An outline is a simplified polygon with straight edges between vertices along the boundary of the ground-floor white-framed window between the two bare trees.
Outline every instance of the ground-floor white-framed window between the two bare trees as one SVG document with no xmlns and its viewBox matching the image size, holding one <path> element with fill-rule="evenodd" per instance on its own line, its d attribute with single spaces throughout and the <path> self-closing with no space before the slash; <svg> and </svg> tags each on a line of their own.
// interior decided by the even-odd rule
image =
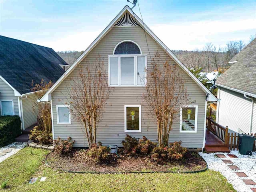
<svg viewBox="0 0 256 192">
<path fill-rule="evenodd" d="M 124 106 L 124 131 L 141 132 L 141 106 Z"/>
</svg>

